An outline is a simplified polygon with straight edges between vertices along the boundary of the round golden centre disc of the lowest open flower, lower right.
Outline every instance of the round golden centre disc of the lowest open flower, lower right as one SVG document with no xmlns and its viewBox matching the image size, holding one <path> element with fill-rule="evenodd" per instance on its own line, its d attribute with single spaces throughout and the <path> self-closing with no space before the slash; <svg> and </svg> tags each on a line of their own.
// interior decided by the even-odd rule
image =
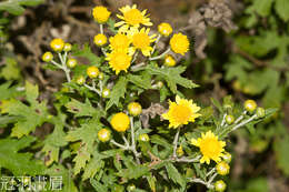
<svg viewBox="0 0 289 192">
<path fill-rule="evenodd" d="M 221 153 L 222 146 L 216 138 L 203 139 L 200 143 L 201 153 L 208 158 L 218 156 Z"/>
</svg>

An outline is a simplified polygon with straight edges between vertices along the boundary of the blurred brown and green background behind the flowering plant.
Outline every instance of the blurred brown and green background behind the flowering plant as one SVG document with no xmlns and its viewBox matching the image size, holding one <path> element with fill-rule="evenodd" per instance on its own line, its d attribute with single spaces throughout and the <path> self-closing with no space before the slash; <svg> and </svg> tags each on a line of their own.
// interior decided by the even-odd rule
<svg viewBox="0 0 289 192">
<path fill-rule="evenodd" d="M 97 4 L 107 6 L 116 17 L 119 7 L 137 3 L 148 9 L 155 30 L 169 22 L 175 31 L 187 33 L 191 51 L 180 64 L 188 65 L 183 75 L 200 84 L 183 90 L 188 97 L 209 105 L 210 98 L 231 94 L 236 102 L 255 99 L 263 108 L 279 108 L 255 129 L 232 133 L 228 191 L 289 191 L 289 0 L 30 0 L 24 7 L 3 2 L 0 83 L 28 79 L 48 100 L 64 77 L 41 68 L 42 53 L 53 38 L 62 38 L 89 42 L 97 54 L 93 36 L 99 28 L 91 17 Z"/>
</svg>

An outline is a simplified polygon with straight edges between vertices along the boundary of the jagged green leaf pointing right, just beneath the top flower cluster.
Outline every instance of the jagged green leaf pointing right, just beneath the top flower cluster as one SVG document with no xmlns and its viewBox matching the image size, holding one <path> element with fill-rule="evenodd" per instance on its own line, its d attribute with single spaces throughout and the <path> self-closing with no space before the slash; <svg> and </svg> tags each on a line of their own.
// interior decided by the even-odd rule
<svg viewBox="0 0 289 192">
<path fill-rule="evenodd" d="M 149 64 L 146 70 L 150 74 L 159 75 L 165 81 L 167 81 L 168 87 L 170 90 L 177 94 L 177 85 L 182 85 L 185 88 L 197 88 L 198 84 L 193 83 L 192 81 L 182 78 L 181 73 L 186 70 L 185 67 L 177 67 L 177 68 L 159 68 L 157 65 Z"/>
</svg>

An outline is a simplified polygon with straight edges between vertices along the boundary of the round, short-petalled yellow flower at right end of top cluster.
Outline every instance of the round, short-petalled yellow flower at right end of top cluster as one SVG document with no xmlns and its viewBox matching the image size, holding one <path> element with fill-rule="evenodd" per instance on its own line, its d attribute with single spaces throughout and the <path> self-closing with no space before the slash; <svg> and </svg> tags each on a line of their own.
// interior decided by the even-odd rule
<svg viewBox="0 0 289 192">
<path fill-rule="evenodd" d="M 188 37 L 182 33 L 173 34 L 170 39 L 171 50 L 176 53 L 185 54 L 189 51 L 190 42 Z"/>
</svg>

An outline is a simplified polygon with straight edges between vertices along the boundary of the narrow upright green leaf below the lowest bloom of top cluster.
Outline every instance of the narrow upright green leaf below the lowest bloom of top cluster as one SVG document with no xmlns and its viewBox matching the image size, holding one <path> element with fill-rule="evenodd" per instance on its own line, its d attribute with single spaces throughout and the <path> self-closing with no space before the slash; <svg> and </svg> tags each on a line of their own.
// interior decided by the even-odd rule
<svg viewBox="0 0 289 192">
<path fill-rule="evenodd" d="M 124 98 L 127 84 L 128 80 L 124 77 L 120 77 L 110 92 L 110 99 L 107 103 L 106 110 L 109 110 L 113 104 L 118 105 L 120 98 Z"/>
</svg>

